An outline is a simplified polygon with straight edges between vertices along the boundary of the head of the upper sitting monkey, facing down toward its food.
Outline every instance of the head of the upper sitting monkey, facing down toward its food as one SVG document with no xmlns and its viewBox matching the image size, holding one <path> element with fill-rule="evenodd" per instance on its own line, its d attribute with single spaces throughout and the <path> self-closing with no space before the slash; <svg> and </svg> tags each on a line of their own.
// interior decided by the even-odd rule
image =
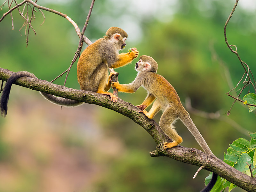
<svg viewBox="0 0 256 192">
<path fill-rule="evenodd" d="M 106 39 L 109 39 L 110 41 L 114 42 L 117 49 L 123 49 L 126 46 L 126 39 L 128 37 L 127 33 L 118 27 L 111 27 L 107 30 L 106 36 L 104 36 Z"/>
</svg>

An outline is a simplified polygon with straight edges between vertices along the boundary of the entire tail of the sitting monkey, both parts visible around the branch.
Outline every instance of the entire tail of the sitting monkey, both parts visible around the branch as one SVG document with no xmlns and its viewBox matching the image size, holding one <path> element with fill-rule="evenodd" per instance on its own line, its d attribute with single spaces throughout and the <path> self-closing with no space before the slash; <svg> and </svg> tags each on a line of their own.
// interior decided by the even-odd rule
<svg viewBox="0 0 256 192">
<path fill-rule="evenodd" d="M 4 90 L 3 90 L 1 98 L 0 98 L 1 115 L 4 115 L 4 116 L 7 115 L 7 109 L 8 109 L 7 104 L 8 104 L 12 84 L 18 78 L 23 77 L 23 76 L 36 78 L 36 76 L 34 74 L 29 73 L 28 71 L 20 71 L 20 72 L 14 73 L 6 81 L 5 86 L 4 86 Z M 40 92 L 40 93 L 44 96 L 45 99 L 47 99 L 47 100 L 49 100 L 52 103 L 55 103 L 57 105 L 66 106 L 66 107 L 75 107 L 75 106 L 83 104 L 83 102 L 80 102 L 80 101 L 75 101 L 75 100 L 65 99 L 65 98 L 61 98 L 61 97 L 56 97 L 54 95 L 47 94 L 47 93 L 44 93 L 44 92 Z"/>
</svg>

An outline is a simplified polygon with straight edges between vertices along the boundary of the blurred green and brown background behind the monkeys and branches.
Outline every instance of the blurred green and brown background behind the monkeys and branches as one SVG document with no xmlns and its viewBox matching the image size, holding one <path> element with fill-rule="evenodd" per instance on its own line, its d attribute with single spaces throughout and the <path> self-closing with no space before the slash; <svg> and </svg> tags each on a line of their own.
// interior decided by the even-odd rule
<svg viewBox="0 0 256 192">
<path fill-rule="evenodd" d="M 39 0 L 37 4 L 67 14 L 82 30 L 91 1 Z M 136 47 L 140 55 L 157 61 L 157 73 L 174 86 L 220 159 L 229 143 L 241 137 L 249 140 L 248 132 L 255 131 L 255 112 L 248 113 L 248 106 L 237 102 L 226 115 L 234 101 L 226 93 L 244 74 L 224 41 L 224 24 L 234 4 L 235 0 L 96 0 L 85 31 L 94 42 L 109 27 L 123 28 L 128 39 L 122 52 Z M 7 5 L 2 8 L 1 16 L 8 11 Z M 237 46 L 253 74 L 255 9 L 255 1 L 240 0 L 227 27 L 229 44 Z M 36 36 L 30 29 L 26 48 L 25 28 L 19 31 L 24 21 L 17 10 L 12 14 L 14 30 L 10 15 L 0 23 L 0 67 L 29 71 L 47 81 L 65 71 L 79 41 L 74 27 L 46 11 L 40 26 L 44 18 L 37 10 L 32 23 Z M 137 61 L 116 69 L 121 84 L 134 80 Z M 54 83 L 63 85 L 65 76 Z M 66 86 L 80 89 L 76 63 Z M 139 105 L 146 95 L 143 88 L 134 94 L 119 93 L 133 105 Z M 185 101 L 191 101 L 192 108 Z M 154 120 L 158 122 L 160 116 Z M 176 127 L 182 146 L 201 149 L 180 121 Z M 149 152 L 155 148 L 142 127 L 114 111 L 90 104 L 61 110 L 38 92 L 13 85 L 8 115 L 0 117 L 0 191 L 199 191 L 204 187 L 208 171 L 192 179 L 198 167 L 166 157 L 152 158 Z"/>
</svg>

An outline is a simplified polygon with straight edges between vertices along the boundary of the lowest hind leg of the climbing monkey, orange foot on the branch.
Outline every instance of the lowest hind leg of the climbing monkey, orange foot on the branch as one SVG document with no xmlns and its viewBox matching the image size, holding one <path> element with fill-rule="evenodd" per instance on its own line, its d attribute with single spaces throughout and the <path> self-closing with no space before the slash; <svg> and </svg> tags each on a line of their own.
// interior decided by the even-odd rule
<svg viewBox="0 0 256 192">
<path fill-rule="evenodd" d="M 164 149 L 173 148 L 179 145 L 182 142 L 182 138 L 174 129 L 173 124 L 178 119 L 178 115 L 174 112 L 172 108 L 167 108 L 161 119 L 159 121 L 159 125 L 161 129 L 164 131 L 166 135 L 168 135 L 173 141 L 172 142 L 165 142 Z"/>
</svg>

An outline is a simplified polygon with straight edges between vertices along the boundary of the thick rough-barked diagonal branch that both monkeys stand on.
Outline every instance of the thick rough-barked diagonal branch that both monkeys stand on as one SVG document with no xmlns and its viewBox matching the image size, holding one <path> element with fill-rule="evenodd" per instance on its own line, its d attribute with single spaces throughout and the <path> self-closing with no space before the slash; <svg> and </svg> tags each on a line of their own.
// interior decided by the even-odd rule
<svg viewBox="0 0 256 192">
<path fill-rule="evenodd" d="M 0 80 L 6 81 L 13 73 L 14 72 L 8 69 L 0 68 Z M 165 141 L 170 142 L 170 138 L 164 134 L 160 126 L 154 120 L 146 118 L 146 116 L 138 112 L 139 108 L 136 108 L 124 100 L 118 99 L 118 101 L 114 103 L 110 101 L 109 97 L 106 95 L 91 91 L 71 89 L 61 85 L 52 84 L 45 80 L 30 77 L 21 77 L 15 82 L 15 84 L 32 90 L 42 91 L 56 96 L 95 104 L 114 110 L 132 119 L 151 135 L 157 145 L 156 150 L 150 152 L 152 157 L 166 156 L 177 161 L 199 167 L 204 165 L 204 169 L 218 174 L 220 177 L 234 183 L 236 186 L 247 191 L 256 191 L 255 178 L 239 172 L 235 168 L 218 159 L 216 156 L 208 155 L 196 148 L 185 148 L 182 146 L 164 150 L 163 143 Z"/>
</svg>

